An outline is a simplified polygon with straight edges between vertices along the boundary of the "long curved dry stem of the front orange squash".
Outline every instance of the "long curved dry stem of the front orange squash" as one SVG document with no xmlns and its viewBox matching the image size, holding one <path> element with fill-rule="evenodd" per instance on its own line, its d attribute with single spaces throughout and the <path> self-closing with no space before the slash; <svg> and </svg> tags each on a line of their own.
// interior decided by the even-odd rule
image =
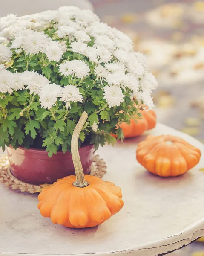
<svg viewBox="0 0 204 256">
<path fill-rule="evenodd" d="M 79 134 L 80 134 L 87 118 L 88 118 L 88 115 L 87 115 L 86 111 L 84 111 L 74 129 L 74 132 L 72 135 L 72 140 L 71 140 L 72 160 L 74 163 L 75 173 L 76 173 L 76 181 L 73 183 L 73 185 L 75 187 L 80 187 L 80 188 L 84 188 L 89 185 L 89 183 L 86 182 L 85 178 L 84 178 L 83 168 L 81 165 L 79 149 L 78 149 Z"/>
</svg>

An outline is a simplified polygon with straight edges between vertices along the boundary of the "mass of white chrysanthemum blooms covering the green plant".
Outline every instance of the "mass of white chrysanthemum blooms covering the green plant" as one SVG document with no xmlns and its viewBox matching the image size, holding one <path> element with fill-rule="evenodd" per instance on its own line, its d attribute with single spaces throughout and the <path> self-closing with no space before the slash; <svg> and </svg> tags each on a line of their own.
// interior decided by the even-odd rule
<svg viewBox="0 0 204 256">
<path fill-rule="evenodd" d="M 151 93 L 158 83 L 149 73 L 146 58 L 141 53 L 133 51 L 133 42 L 127 35 L 100 23 L 98 16 L 93 12 L 66 6 L 57 11 L 22 17 L 8 15 L 0 19 L 0 27 L 3 28 L 0 32 L 0 64 L 11 61 L 10 48 L 17 54 L 17 58 L 19 55 L 23 58 L 24 55 L 37 55 L 42 52 L 47 58 L 44 60 L 39 54 L 36 56 L 36 62 L 46 65 L 48 61 L 57 61 L 55 67 L 57 79 L 60 76 L 69 76 L 69 79 L 71 76 L 80 79 L 86 76 L 92 78 L 94 73 L 97 84 L 103 85 L 106 81 L 109 86 L 104 87 L 103 95 L 109 107 L 119 106 L 124 101 L 124 93 L 127 89 L 149 108 L 152 107 Z M 50 32 L 49 35 L 46 34 L 47 31 Z M 91 40 L 93 40 L 92 44 L 89 43 Z M 10 48 L 6 47 L 8 43 L 12 43 Z M 62 63 L 63 55 L 67 51 L 69 51 L 67 60 Z M 92 73 L 89 64 L 86 64 L 85 56 L 89 58 L 89 63 L 92 62 L 91 65 L 94 65 Z M 32 63 L 30 64 L 32 66 Z M 20 71 L 20 66 L 15 62 L 13 65 L 15 70 Z M 62 94 L 57 93 L 61 87 L 50 84 L 45 76 L 39 75 L 37 72 L 41 72 L 40 68 L 37 72 L 26 71 L 14 74 L 7 71 L 4 65 L 0 65 L 0 72 L 2 72 L 2 78 L 0 77 L 2 91 L 11 93 L 12 90 L 23 90 L 25 86 L 30 94 L 39 94 L 43 108 L 51 108 L 55 105 L 57 97 L 69 107 L 70 102 L 82 102 L 82 94 L 73 85 L 62 88 Z M 9 78 L 8 75 L 11 77 Z M 96 131 L 97 123 L 94 123 L 92 129 Z"/>
</svg>

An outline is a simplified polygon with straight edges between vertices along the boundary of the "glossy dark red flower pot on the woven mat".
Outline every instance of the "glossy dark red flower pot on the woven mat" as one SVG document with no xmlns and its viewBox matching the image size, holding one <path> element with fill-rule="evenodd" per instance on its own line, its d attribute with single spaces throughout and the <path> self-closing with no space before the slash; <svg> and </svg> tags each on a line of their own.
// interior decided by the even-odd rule
<svg viewBox="0 0 204 256">
<path fill-rule="evenodd" d="M 48 153 L 43 149 L 11 146 L 7 148 L 11 173 L 27 183 L 32 184 L 52 184 L 57 179 L 69 175 L 75 175 L 75 169 L 70 152 L 65 154 L 58 151 L 56 155 L 48 157 Z M 81 163 L 84 174 L 89 174 L 94 146 L 86 145 L 79 148 Z"/>
</svg>

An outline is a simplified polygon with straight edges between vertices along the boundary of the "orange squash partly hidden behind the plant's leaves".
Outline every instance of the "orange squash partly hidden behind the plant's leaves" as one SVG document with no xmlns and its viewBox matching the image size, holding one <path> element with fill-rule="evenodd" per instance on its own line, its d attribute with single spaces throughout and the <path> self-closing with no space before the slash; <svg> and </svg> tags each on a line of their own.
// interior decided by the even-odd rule
<svg viewBox="0 0 204 256">
<path fill-rule="evenodd" d="M 125 122 L 120 125 L 123 130 L 125 138 L 132 138 L 138 135 L 143 134 L 146 130 L 151 130 L 156 125 L 156 114 L 155 111 L 139 111 L 142 114 L 142 119 L 137 119 L 137 122 L 134 119 L 130 120 L 130 125 Z M 113 137 L 117 138 L 117 135 L 112 134 Z"/>
</svg>

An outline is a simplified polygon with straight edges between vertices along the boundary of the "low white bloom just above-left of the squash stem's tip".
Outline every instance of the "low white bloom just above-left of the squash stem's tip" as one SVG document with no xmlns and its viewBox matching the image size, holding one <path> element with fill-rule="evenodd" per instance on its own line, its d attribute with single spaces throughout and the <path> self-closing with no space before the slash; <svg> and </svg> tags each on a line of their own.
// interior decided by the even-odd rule
<svg viewBox="0 0 204 256">
<path fill-rule="evenodd" d="M 62 88 L 61 100 L 66 103 L 66 107 L 71 108 L 70 102 L 83 102 L 83 96 L 79 92 L 79 89 L 74 85 L 67 85 Z"/>
</svg>

